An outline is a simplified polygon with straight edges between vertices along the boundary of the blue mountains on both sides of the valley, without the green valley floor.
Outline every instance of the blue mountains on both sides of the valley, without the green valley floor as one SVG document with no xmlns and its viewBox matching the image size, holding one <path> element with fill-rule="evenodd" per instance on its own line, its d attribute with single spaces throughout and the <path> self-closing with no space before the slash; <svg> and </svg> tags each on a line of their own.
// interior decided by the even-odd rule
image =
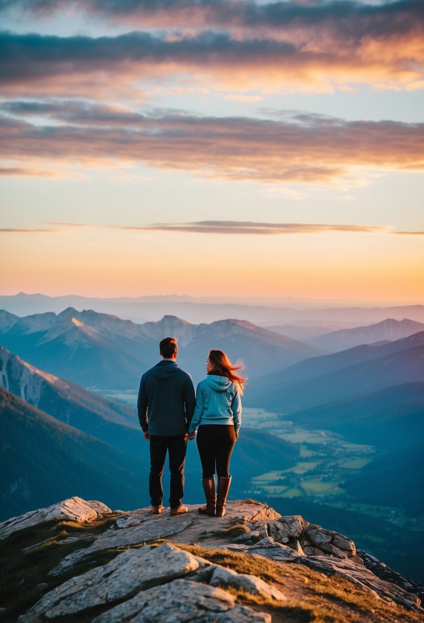
<svg viewBox="0 0 424 623">
<path fill-rule="evenodd" d="M 387 331 L 398 326 L 390 320 L 381 325 Z M 383 335 L 381 328 L 377 327 L 378 337 L 384 339 L 377 343 L 321 354 L 310 344 L 241 320 L 195 325 L 164 316 L 160 321 L 139 325 L 73 308 L 58 315 L 47 312 L 24 318 L 2 312 L 0 343 L 9 350 L 0 350 L 0 385 L 17 396 L 7 393 L 0 404 L 2 454 L 6 461 L 22 464 L 26 475 L 31 464 L 34 474 L 25 480 L 17 467 L 5 465 L 7 477 L 1 495 L 16 503 L 16 512 L 30 510 L 48 503 L 46 500 L 68 495 L 71 479 L 63 465 L 70 466 L 72 478 L 81 478 L 80 465 L 87 478 L 95 481 L 100 478 L 101 467 L 106 481 L 110 481 L 109 490 L 104 489 L 105 500 L 119 494 L 121 497 L 113 499 L 120 500 L 115 504 L 122 508 L 133 507 L 135 499 L 138 505 L 147 505 L 149 444 L 142 437 L 135 409 L 105 400 L 81 384 L 86 388 L 95 384 L 137 391 L 141 372 L 159 359 L 159 340 L 168 334 L 178 337 L 178 362 L 185 369 L 192 366 L 198 377 L 203 376 L 203 363 L 212 346 L 221 346 L 233 359 L 242 356 L 250 375 L 244 406 L 277 411 L 306 429 L 331 430 L 350 442 L 373 445 L 376 454 L 371 462 L 351 476 L 346 473 L 339 487 L 351 496 L 348 500 L 365 504 L 379 500 L 394 508 L 402 506 L 413 516 L 423 508 L 422 455 L 414 446 L 423 435 L 424 331 L 387 341 L 388 335 Z M 416 328 L 414 323 L 409 323 L 411 328 Z M 367 327 L 370 333 L 373 330 Z M 393 331 L 390 336 L 394 336 Z M 20 357 L 11 353 L 11 345 L 19 348 Z M 32 358 L 30 363 L 24 353 Z M 18 408 L 19 399 L 26 402 L 19 402 Z M 293 468 L 299 450 L 300 445 L 277 435 L 243 426 L 231 462 L 237 474 L 231 495 L 246 497 L 246 487 L 254 476 Z M 43 453 L 37 463 L 37 454 Z M 100 456 L 112 468 L 110 475 Z M 74 467 L 75 457 L 78 464 Z M 201 466 L 194 443 L 188 445 L 185 473 L 185 501 L 197 502 L 202 495 Z M 362 475 L 367 480 L 361 480 Z M 42 483 L 39 497 L 37 480 Z M 165 499 L 167 480 L 165 477 Z M 124 485 L 118 491 L 120 482 Z M 75 483 L 79 486 L 80 481 Z M 279 504 L 284 502 L 281 498 Z M 413 560 L 415 569 L 411 539 L 408 543 L 407 559 Z M 405 569 L 407 564 L 405 561 Z"/>
</svg>

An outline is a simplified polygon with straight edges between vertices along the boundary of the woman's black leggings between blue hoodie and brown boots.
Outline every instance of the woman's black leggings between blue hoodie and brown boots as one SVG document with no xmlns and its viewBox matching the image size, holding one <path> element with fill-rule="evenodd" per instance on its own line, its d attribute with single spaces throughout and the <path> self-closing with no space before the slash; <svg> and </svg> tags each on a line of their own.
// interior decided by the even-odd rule
<svg viewBox="0 0 424 623">
<path fill-rule="evenodd" d="M 201 424 L 196 441 L 203 478 L 215 475 L 215 465 L 218 477 L 228 478 L 229 459 L 236 443 L 233 424 Z"/>
</svg>

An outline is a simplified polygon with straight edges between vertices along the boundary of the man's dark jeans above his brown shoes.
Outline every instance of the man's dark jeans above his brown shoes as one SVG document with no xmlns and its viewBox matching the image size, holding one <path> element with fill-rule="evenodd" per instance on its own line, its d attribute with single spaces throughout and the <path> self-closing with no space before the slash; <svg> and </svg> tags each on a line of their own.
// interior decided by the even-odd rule
<svg viewBox="0 0 424 623">
<path fill-rule="evenodd" d="M 187 450 L 185 435 L 150 435 L 150 475 L 149 493 L 152 506 L 162 504 L 162 474 L 168 450 L 169 471 L 171 473 L 169 503 L 172 508 L 180 505 L 184 495 L 184 463 Z"/>
</svg>

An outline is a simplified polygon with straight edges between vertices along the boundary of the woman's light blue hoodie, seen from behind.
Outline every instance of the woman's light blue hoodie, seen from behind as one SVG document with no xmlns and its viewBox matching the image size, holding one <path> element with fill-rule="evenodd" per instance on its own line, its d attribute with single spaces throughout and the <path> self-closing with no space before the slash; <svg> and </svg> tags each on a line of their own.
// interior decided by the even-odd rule
<svg viewBox="0 0 424 623">
<path fill-rule="evenodd" d="M 208 374 L 206 379 L 200 381 L 188 433 L 192 433 L 199 424 L 234 424 L 234 430 L 239 432 L 241 400 L 236 383 L 216 374 Z"/>
</svg>

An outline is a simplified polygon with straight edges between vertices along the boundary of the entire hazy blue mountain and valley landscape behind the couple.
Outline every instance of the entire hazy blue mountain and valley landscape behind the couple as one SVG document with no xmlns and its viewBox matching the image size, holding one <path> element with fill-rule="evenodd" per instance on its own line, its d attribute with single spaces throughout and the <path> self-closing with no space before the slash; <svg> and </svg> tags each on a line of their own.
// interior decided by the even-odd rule
<svg viewBox="0 0 424 623">
<path fill-rule="evenodd" d="M 173 335 L 178 363 L 195 382 L 210 348 L 246 364 L 233 498 L 272 498 L 281 513 L 315 523 L 323 516 L 422 581 L 424 312 L 352 310 L 349 323 L 367 311 L 376 322 L 346 327 L 346 309 L 331 318 L 314 310 L 310 321 L 303 310 L 297 324 L 283 316 L 274 331 L 170 315 L 139 324 L 73 308 L 24 318 L 0 312 L 1 519 L 71 495 L 124 510 L 149 504 L 135 399 L 141 374 L 159 360 L 160 338 Z M 283 325 L 297 338 L 283 335 Z M 189 503 L 202 499 L 200 475 L 191 443 Z"/>
</svg>

